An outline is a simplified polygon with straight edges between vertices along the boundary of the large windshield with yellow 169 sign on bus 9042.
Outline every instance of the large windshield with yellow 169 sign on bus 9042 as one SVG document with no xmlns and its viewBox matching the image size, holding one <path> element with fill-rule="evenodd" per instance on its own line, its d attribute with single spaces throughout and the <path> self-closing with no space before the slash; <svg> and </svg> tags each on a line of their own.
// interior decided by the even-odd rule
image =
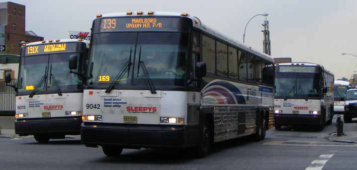
<svg viewBox="0 0 357 170">
<path fill-rule="evenodd" d="M 89 85 L 106 88 L 116 81 L 114 88 L 147 89 L 148 76 L 144 72 L 147 70 L 157 89 L 183 86 L 187 42 L 188 34 L 185 33 L 94 34 Z M 128 69 L 118 77 L 126 66 Z"/>
</svg>

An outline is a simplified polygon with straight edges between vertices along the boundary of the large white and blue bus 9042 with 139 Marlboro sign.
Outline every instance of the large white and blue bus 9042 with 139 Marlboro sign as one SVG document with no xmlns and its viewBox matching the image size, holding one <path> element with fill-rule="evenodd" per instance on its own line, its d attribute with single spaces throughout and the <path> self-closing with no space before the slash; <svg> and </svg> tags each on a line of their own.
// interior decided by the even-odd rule
<svg viewBox="0 0 357 170">
<path fill-rule="evenodd" d="M 186 13 L 99 14 L 91 34 L 87 147 L 117 156 L 123 148 L 198 146 L 203 157 L 214 142 L 265 138 L 273 109 L 268 55 Z"/>
</svg>

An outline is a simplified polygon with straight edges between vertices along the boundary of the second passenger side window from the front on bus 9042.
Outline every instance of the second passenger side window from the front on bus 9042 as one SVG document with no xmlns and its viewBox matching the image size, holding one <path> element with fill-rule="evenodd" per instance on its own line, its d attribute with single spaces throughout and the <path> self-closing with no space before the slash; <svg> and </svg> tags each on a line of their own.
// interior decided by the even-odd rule
<svg viewBox="0 0 357 170">
<path fill-rule="evenodd" d="M 228 52 L 227 45 L 219 41 L 217 43 L 217 74 L 228 76 Z"/>
</svg>

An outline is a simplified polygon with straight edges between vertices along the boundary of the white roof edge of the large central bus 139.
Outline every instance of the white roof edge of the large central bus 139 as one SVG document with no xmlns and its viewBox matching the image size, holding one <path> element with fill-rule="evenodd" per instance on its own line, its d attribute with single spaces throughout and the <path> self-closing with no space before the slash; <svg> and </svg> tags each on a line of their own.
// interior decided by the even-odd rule
<svg viewBox="0 0 357 170">
<path fill-rule="evenodd" d="M 132 12 L 132 14 L 128 15 L 127 12 L 117 12 L 117 13 L 108 13 L 108 14 L 103 14 L 102 17 L 121 17 L 121 16 L 177 16 L 177 17 L 185 17 L 181 16 L 182 13 L 177 13 L 177 12 L 154 12 L 154 14 L 148 14 L 148 12 L 143 12 L 143 14 L 138 15 L 137 12 Z M 267 54 L 261 53 L 258 50 L 252 49 L 251 47 L 238 42 L 237 40 L 234 40 L 232 38 L 228 38 L 224 34 L 221 34 L 219 31 L 214 30 L 213 28 L 210 28 L 209 26 L 203 24 L 200 19 L 198 19 L 195 16 L 188 15 L 186 18 L 190 18 L 192 20 L 193 27 L 206 32 L 208 34 L 211 34 L 213 36 L 216 36 L 219 39 L 222 39 L 224 41 L 227 41 L 228 43 L 237 46 L 238 48 L 250 52 L 256 56 L 259 56 L 261 58 L 264 58 L 265 60 L 268 60 L 270 62 L 274 62 L 273 58 L 268 56 Z"/>
</svg>

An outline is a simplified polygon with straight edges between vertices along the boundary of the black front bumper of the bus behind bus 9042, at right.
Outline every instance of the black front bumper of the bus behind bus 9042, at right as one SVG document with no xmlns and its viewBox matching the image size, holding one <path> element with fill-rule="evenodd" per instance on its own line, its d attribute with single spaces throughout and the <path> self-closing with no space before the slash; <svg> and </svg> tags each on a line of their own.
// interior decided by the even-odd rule
<svg viewBox="0 0 357 170">
<path fill-rule="evenodd" d="M 321 114 L 274 114 L 274 121 L 279 125 L 320 125 Z"/>
</svg>

